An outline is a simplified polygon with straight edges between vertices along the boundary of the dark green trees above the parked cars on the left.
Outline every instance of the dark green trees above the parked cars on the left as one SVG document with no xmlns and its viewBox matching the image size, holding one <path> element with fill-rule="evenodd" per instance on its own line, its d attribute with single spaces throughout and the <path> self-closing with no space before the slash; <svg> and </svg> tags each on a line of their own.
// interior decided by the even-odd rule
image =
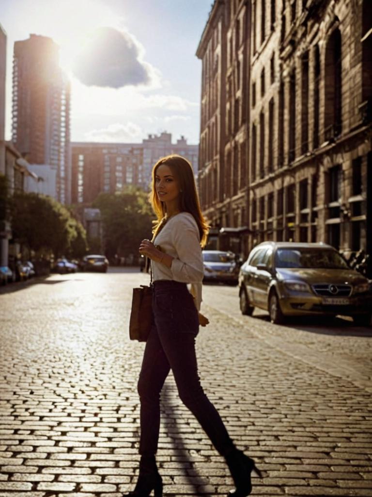
<svg viewBox="0 0 372 497">
<path fill-rule="evenodd" d="M 37 193 L 17 193 L 12 199 L 13 238 L 35 250 L 80 256 L 86 253 L 82 225 L 59 202 Z"/>
</svg>

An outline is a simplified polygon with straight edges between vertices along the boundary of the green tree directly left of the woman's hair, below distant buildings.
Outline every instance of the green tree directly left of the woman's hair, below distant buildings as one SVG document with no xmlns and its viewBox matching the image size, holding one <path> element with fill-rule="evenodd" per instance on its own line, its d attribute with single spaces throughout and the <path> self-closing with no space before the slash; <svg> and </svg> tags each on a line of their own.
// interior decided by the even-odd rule
<svg viewBox="0 0 372 497">
<path fill-rule="evenodd" d="M 138 255 L 144 238 L 151 238 L 154 218 L 147 193 L 130 187 L 115 194 L 101 193 L 92 207 L 101 211 L 104 227 L 105 253 L 108 257 Z"/>
</svg>

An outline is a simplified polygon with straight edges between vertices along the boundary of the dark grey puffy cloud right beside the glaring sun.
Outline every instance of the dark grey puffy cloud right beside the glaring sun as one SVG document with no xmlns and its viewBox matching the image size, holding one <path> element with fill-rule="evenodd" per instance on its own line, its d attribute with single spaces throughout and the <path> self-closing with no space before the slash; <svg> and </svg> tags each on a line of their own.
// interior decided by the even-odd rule
<svg viewBox="0 0 372 497">
<path fill-rule="evenodd" d="M 72 71 L 86 86 L 150 85 L 156 71 L 142 60 L 142 52 L 128 33 L 113 27 L 97 28 L 76 56 Z"/>
</svg>

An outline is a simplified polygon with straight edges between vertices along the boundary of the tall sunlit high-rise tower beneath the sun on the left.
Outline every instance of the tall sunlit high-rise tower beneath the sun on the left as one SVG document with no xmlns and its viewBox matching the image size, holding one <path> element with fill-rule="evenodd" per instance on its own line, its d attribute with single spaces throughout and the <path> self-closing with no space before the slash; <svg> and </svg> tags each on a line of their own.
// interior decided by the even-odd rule
<svg viewBox="0 0 372 497">
<path fill-rule="evenodd" d="M 56 170 L 57 200 L 70 203 L 69 82 L 51 38 L 14 43 L 12 142 L 30 164 Z"/>
</svg>

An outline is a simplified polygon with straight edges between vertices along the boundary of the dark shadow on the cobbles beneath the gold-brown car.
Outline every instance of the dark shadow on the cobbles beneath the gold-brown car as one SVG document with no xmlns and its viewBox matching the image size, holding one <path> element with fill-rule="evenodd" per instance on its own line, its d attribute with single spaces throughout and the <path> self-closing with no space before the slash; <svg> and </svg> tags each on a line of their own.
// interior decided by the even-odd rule
<svg viewBox="0 0 372 497">
<path fill-rule="evenodd" d="M 269 322 L 268 314 L 260 314 L 257 316 L 253 315 L 252 318 Z M 294 330 L 310 331 L 311 333 L 318 333 L 323 335 L 364 336 L 372 338 L 371 327 L 356 326 L 353 321 L 349 321 L 348 319 L 344 319 L 341 317 L 287 317 L 284 325 L 280 326 L 285 326 Z"/>
</svg>

